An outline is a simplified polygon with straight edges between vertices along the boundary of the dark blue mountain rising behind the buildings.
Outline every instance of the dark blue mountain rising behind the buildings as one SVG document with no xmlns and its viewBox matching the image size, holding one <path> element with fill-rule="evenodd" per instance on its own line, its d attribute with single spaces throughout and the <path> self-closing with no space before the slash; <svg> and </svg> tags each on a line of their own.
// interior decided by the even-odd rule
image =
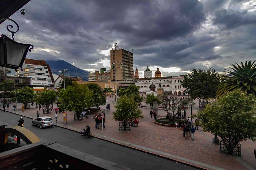
<svg viewBox="0 0 256 170">
<path fill-rule="evenodd" d="M 88 71 L 79 69 L 72 64 L 63 61 L 63 60 L 48 60 L 46 61 L 47 64 L 49 64 L 52 73 L 60 75 L 60 70 L 68 69 L 67 73 L 65 73 L 66 76 L 73 76 L 73 77 L 81 77 L 83 81 L 88 81 Z"/>
</svg>

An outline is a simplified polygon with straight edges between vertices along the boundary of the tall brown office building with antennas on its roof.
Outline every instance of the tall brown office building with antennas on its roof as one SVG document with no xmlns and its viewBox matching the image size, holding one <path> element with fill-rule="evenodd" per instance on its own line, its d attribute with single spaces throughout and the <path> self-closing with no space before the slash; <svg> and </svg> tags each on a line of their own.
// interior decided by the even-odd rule
<svg viewBox="0 0 256 170">
<path fill-rule="evenodd" d="M 133 53 L 126 51 L 124 49 L 119 49 L 118 46 L 115 45 L 115 49 L 110 51 L 110 65 L 111 68 L 113 64 L 116 64 L 116 74 L 115 70 L 111 69 L 110 76 L 111 80 L 117 82 L 120 87 L 128 87 L 129 85 L 135 84 L 137 80 L 133 79 Z M 120 67 L 120 63 L 122 63 L 122 68 Z"/>
</svg>

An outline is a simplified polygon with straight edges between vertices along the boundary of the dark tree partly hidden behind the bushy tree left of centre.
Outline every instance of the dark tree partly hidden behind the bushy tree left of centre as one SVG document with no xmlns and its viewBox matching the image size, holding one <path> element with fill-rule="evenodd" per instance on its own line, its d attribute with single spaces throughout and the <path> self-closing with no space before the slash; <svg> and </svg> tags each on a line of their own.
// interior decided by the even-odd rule
<svg viewBox="0 0 256 170">
<path fill-rule="evenodd" d="M 89 83 L 89 84 L 86 84 L 86 86 L 93 92 L 92 105 L 98 108 L 99 105 L 106 104 L 106 96 L 102 95 L 102 90 L 99 85 L 97 85 L 96 83 Z"/>
</svg>

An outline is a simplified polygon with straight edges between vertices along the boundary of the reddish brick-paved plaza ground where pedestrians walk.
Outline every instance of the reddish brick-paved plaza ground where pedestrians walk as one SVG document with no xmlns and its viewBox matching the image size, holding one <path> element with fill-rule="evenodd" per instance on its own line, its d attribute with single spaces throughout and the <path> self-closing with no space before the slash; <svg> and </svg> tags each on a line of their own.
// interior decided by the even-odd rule
<svg viewBox="0 0 256 170">
<path fill-rule="evenodd" d="M 108 102 L 110 103 L 111 108 L 110 111 L 106 111 L 105 129 L 103 130 L 103 139 L 105 140 L 145 150 L 150 153 L 155 153 L 206 169 L 256 169 L 256 161 L 253 154 L 253 150 L 256 148 L 256 142 L 241 142 L 241 158 L 226 156 L 219 152 L 219 145 L 214 145 L 211 142 L 213 135 L 210 133 L 196 131 L 195 140 L 186 140 L 183 138 L 181 128 L 176 129 L 154 124 L 153 119 L 150 118 L 149 105 L 147 105 L 148 108 L 141 109 L 144 119 L 139 119 L 138 127 L 131 127 L 131 131 L 118 131 L 118 121 L 113 120 L 112 115 L 112 112 L 115 111 L 112 101 L 113 99 L 108 97 Z M 144 103 L 142 104 L 146 105 Z M 30 109 L 25 110 L 25 113 L 21 113 L 19 104 L 18 113 L 35 118 L 35 113 L 38 109 L 35 109 L 34 107 L 35 106 L 31 106 Z M 56 106 L 54 105 L 54 108 L 55 107 Z M 101 109 L 103 109 L 103 107 L 105 108 L 105 106 L 101 106 Z M 198 105 L 193 108 L 192 114 L 197 113 L 196 108 L 198 108 Z M 9 109 L 10 111 L 12 110 L 12 104 Z M 159 109 L 159 114 L 161 116 L 166 115 L 163 109 Z M 43 114 L 41 111 L 40 116 L 43 115 L 53 118 L 54 112 L 51 114 Z M 67 117 L 68 123 L 63 123 L 63 115 L 59 115 L 59 120 L 56 125 L 75 131 L 80 131 L 86 125 L 89 125 L 93 134 L 100 137 L 101 130 L 95 129 L 93 115 L 94 114 L 91 114 L 89 118 L 81 121 L 74 121 L 74 113 L 69 112 Z M 187 116 L 188 115 L 190 115 L 190 111 L 187 111 Z"/>
</svg>

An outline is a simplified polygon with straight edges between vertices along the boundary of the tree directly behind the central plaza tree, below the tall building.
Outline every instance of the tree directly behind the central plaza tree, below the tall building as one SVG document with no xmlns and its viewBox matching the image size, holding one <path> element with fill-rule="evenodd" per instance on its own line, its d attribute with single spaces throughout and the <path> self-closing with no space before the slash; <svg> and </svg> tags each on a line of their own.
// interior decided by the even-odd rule
<svg viewBox="0 0 256 170">
<path fill-rule="evenodd" d="M 133 99 L 138 103 L 143 101 L 143 97 L 139 95 L 139 87 L 136 85 L 130 85 L 128 88 L 121 88 L 118 92 L 120 97 L 126 95 L 128 97 L 133 97 Z"/>
</svg>

